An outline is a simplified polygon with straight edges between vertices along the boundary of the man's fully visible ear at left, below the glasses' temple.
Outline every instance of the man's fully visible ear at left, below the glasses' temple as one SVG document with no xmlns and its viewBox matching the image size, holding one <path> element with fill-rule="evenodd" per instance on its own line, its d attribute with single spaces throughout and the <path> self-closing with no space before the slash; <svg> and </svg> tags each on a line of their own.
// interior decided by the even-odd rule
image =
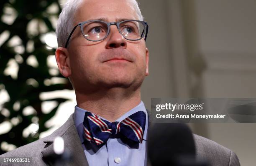
<svg viewBox="0 0 256 166">
<path fill-rule="evenodd" d="M 59 47 L 55 51 L 55 58 L 59 68 L 59 72 L 64 77 L 69 77 L 71 75 L 70 61 L 69 61 L 69 52 L 67 48 Z"/>
</svg>

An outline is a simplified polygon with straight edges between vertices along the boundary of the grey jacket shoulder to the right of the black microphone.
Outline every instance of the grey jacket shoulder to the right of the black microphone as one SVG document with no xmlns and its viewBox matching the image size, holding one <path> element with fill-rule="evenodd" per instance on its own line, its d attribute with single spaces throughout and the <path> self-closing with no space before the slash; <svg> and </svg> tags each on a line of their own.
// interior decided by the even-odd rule
<svg viewBox="0 0 256 166">
<path fill-rule="evenodd" d="M 211 166 L 240 166 L 236 153 L 210 139 L 193 134 L 199 161 L 207 160 Z"/>
</svg>

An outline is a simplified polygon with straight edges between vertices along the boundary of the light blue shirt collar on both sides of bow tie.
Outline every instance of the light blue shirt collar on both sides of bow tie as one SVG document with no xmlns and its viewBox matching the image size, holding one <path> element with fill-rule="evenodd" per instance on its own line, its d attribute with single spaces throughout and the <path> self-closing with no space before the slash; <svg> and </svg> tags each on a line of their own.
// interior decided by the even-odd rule
<svg viewBox="0 0 256 166">
<path fill-rule="evenodd" d="M 148 131 L 148 113 L 146 111 L 145 105 L 143 101 L 139 103 L 136 107 L 132 108 L 130 111 L 127 113 L 123 114 L 120 118 L 118 118 L 116 121 L 123 121 L 125 118 L 128 116 L 132 115 L 133 113 L 136 113 L 138 111 L 143 111 L 146 114 L 146 125 L 145 125 L 145 131 L 143 134 L 143 139 L 146 140 L 147 136 L 147 131 Z M 82 108 L 79 108 L 78 106 L 75 106 L 75 111 L 74 111 L 74 123 L 78 131 L 78 135 L 80 137 L 80 140 L 83 142 L 84 137 L 83 137 L 83 121 L 84 121 L 84 115 L 87 110 L 84 110 Z M 104 118 L 103 118 L 104 119 Z"/>
</svg>

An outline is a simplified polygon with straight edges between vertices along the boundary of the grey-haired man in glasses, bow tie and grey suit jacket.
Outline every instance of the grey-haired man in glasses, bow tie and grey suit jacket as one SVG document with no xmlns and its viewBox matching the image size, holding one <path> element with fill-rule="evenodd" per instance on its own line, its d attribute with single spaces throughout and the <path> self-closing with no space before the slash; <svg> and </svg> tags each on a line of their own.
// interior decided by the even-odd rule
<svg viewBox="0 0 256 166">
<path fill-rule="evenodd" d="M 1 157 L 51 165 L 54 138 L 61 136 L 73 155 L 67 165 L 146 165 L 148 113 L 140 88 L 148 75 L 148 25 L 142 20 L 135 0 L 69 0 L 58 21 L 56 61 L 74 87 L 75 112 L 50 136 Z M 194 138 L 197 156 L 239 165 L 229 149 Z"/>
</svg>

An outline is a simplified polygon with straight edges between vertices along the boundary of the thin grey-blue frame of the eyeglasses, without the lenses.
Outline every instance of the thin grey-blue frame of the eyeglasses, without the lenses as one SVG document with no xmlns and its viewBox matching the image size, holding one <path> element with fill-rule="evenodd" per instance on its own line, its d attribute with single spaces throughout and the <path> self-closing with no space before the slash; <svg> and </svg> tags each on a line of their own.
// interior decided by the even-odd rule
<svg viewBox="0 0 256 166">
<path fill-rule="evenodd" d="M 92 22 L 92 21 L 98 21 L 98 22 L 105 23 L 105 24 L 108 25 L 108 33 L 107 33 L 107 35 L 106 35 L 104 38 L 102 38 L 102 39 L 100 39 L 100 40 L 90 40 L 90 39 L 87 39 L 87 38 L 84 36 L 84 32 L 83 32 L 83 29 L 82 29 L 82 28 L 83 28 L 83 25 L 86 24 L 86 23 Z M 143 32 L 142 32 L 141 38 L 132 40 L 132 39 L 125 38 L 125 37 L 121 34 L 119 26 L 120 26 L 121 23 L 127 22 L 127 21 L 137 21 L 137 22 L 142 23 L 144 30 L 143 30 Z M 123 21 L 120 21 L 120 22 L 109 22 L 109 23 L 108 23 L 108 22 L 101 21 L 101 20 L 87 20 L 87 21 L 83 21 L 83 22 L 81 22 L 81 23 L 78 23 L 76 26 L 74 26 L 73 30 L 72 30 L 71 33 L 69 34 L 69 37 L 68 37 L 67 42 L 66 42 L 66 44 L 65 44 L 65 48 L 67 48 L 67 45 L 68 45 L 68 43 L 69 43 L 69 39 L 71 38 L 72 34 L 74 33 L 74 30 L 75 30 L 78 26 L 81 28 L 82 35 L 84 36 L 84 38 L 85 38 L 86 40 L 96 42 L 96 41 L 104 40 L 105 38 L 108 37 L 108 35 L 109 35 L 109 33 L 110 33 L 110 25 L 116 25 L 117 28 L 118 28 L 119 33 L 120 33 L 126 40 L 137 41 L 137 40 L 141 40 L 141 39 L 145 36 L 144 40 L 146 41 L 146 38 L 147 38 L 147 35 L 148 35 L 148 23 L 147 23 L 146 21 L 141 21 L 141 20 L 123 20 Z M 146 29 L 146 33 L 145 33 L 145 29 Z"/>
</svg>

